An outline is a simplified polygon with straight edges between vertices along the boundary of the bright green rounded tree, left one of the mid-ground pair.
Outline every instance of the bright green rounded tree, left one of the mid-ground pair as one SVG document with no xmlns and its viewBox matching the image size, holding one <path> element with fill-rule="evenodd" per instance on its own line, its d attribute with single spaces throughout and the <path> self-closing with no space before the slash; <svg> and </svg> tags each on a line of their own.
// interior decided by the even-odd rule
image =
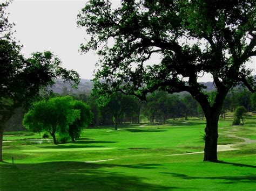
<svg viewBox="0 0 256 191">
<path fill-rule="evenodd" d="M 23 125 L 33 132 L 46 131 L 50 133 L 53 143 L 57 144 L 56 133 L 67 134 L 69 125 L 80 119 L 80 110 L 74 109 L 74 106 L 75 102 L 70 96 L 39 101 L 33 104 L 33 107 L 25 114 Z M 75 128 L 79 126 L 79 122 L 74 126 Z M 75 132 L 75 130 L 71 130 L 71 132 Z M 76 136 L 75 133 L 73 136 Z"/>
</svg>

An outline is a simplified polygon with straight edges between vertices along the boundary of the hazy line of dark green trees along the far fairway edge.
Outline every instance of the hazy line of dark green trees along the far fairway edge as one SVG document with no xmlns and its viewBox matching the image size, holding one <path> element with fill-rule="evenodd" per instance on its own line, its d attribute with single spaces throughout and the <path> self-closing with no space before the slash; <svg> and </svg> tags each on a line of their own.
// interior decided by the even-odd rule
<svg viewBox="0 0 256 191">
<path fill-rule="evenodd" d="M 215 91 L 205 93 L 210 103 L 214 101 Z M 204 119 L 204 112 L 200 104 L 187 93 L 169 94 L 166 91 L 156 91 L 148 94 L 146 101 L 139 100 L 136 96 L 113 93 L 107 103 L 99 101 L 99 95 L 95 94 L 72 94 L 66 89 L 60 95 L 71 95 L 90 105 L 93 113 L 91 126 L 114 125 L 122 123 L 140 122 L 166 122 L 167 119 L 200 117 Z M 213 104 L 213 103 L 212 103 Z M 230 91 L 225 100 L 220 118 L 225 118 L 226 112 L 234 112 L 239 106 L 246 108 L 246 111 L 256 110 L 256 93 L 251 93 L 247 88 L 237 87 Z"/>
</svg>

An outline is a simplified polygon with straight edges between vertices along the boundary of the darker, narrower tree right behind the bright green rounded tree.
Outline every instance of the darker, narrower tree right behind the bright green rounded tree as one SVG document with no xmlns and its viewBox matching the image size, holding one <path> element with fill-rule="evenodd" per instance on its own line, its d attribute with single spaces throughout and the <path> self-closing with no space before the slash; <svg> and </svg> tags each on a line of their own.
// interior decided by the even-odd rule
<svg viewBox="0 0 256 191">
<path fill-rule="evenodd" d="M 77 118 L 69 125 L 69 136 L 72 141 L 78 139 L 83 128 L 87 127 L 92 121 L 92 112 L 90 106 L 82 101 L 74 101 L 73 109 L 80 111 L 80 118 Z"/>
</svg>

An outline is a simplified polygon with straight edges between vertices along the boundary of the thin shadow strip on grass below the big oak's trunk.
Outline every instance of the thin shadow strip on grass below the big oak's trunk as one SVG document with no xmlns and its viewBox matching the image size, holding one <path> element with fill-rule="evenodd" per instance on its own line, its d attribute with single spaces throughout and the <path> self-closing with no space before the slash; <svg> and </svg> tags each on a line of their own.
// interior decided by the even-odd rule
<svg viewBox="0 0 256 191">
<path fill-rule="evenodd" d="M 248 174 L 244 176 L 188 176 L 186 174 L 179 173 L 166 173 L 162 172 L 162 174 L 170 174 L 173 177 L 186 179 L 186 180 L 194 180 L 194 179 L 216 179 L 216 180 L 226 180 L 223 183 L 256 183 L 256 174 Z"/>
</svg>

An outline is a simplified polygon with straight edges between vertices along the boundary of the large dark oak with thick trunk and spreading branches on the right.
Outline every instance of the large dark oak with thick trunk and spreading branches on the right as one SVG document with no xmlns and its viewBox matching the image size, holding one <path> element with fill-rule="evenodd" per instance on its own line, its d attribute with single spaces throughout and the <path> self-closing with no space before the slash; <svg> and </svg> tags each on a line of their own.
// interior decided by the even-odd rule
<svg viewBox="0 0 256 191">
<path fill-rule="evenodd" d="M 234 2 L 234 3 L 233 3 Z M 238 83 L 255 91 L 245 62 L 256 55 L 255 1 L 91 0 L 78 15 L 91 39 L 82 51 L 100 61 L 95 88 L 141 99 L 155 90 L 187 91 L 206 117 L 205 161 L 217 161 L 218 120 L 226 94 Z M 108 41 L 113 43 L 107 43 Z M 146 63 L 153 54 L 161 61 Z M 199 76 L 210 73 L 216 96 L 210 104 Z"/>
</svg>

